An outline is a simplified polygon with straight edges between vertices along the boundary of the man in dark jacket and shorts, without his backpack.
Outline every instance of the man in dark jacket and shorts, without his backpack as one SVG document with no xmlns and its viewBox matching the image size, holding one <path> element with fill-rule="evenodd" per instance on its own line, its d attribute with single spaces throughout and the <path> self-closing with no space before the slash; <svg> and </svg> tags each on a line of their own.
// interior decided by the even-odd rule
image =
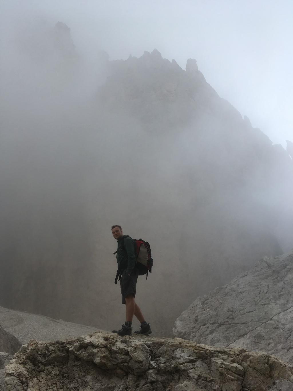
<svg viewBox="0 0 293 391">
<path fill-rule="evenodd" d="M 145 321 L 140 308 L 136 304 L 134 298 L 136 294 L 136 283 L 138 280 L 138 269 L 136 267 L 135 248 L 136 243 L 129 235 L 123 235 L 120 225 L 111 227 L 112 235 L 118 242 L 117 247 L 117 264 L 118 271 L 116 274 L 115 284 L 118 276 L 120 277 L 120 288 L 122 294 L 122 304 L 126 305 L 126 321 L 120 330 L 113 330 L 120 336 L 130 335 L 132 330 L 132 318 L 135 315 L 139 322 L 139 331 L 136 334 L 151 334 L 150 324 Z"/>
</svg>

